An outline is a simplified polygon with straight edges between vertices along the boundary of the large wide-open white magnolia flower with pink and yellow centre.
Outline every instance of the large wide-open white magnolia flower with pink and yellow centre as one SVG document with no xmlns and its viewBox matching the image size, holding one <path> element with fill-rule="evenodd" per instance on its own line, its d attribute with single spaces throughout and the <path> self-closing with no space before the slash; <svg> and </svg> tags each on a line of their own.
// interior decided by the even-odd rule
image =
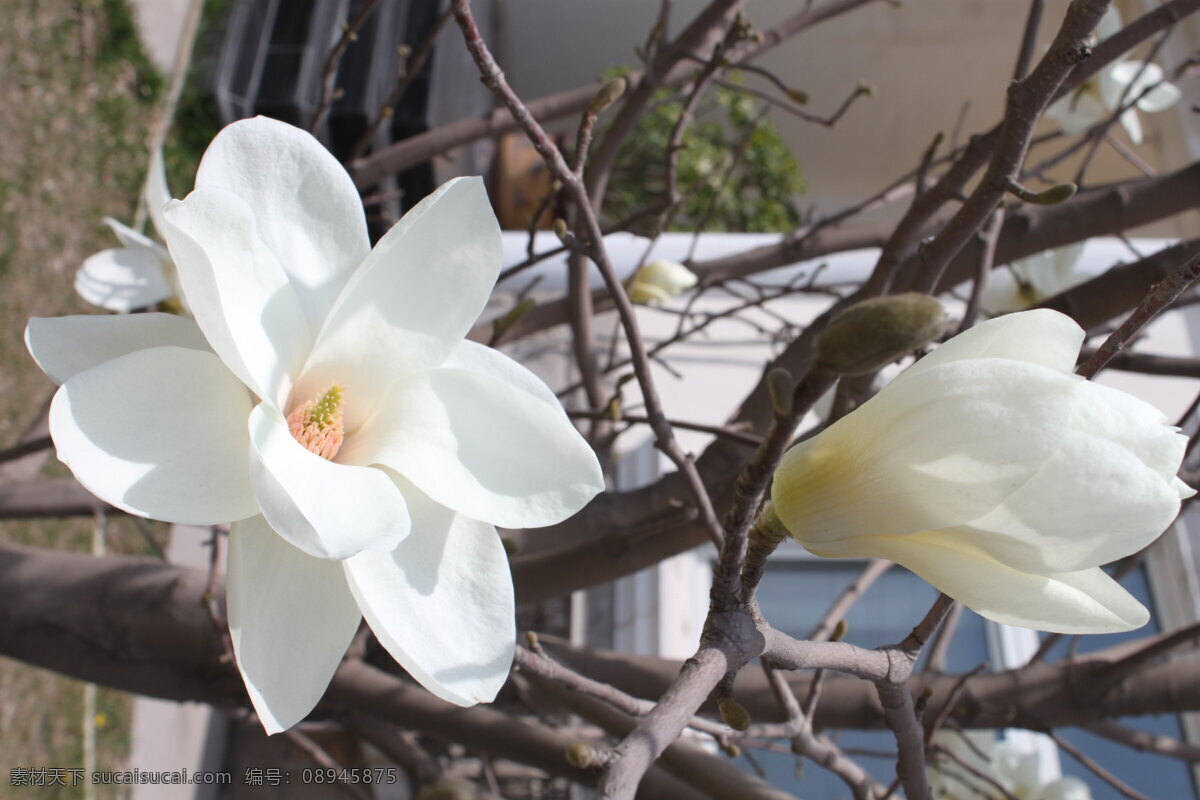
<svg viewBox="0 0 1200 800">
<path fill-rule="evenodd" d="M 362 616 L 438 697 L 494 698 L 512 661 L 493 525 L 546 525 L 604 486 L 550 389 L 463 341 L 500 265 L 479 179 L 371 249 L 358 192 L 307 133 L 254 119 L 164 212 L 196 321 L 34 319 L 62 384 L 59 458 L 102 499 L 233 522 L 227 602 L 268 732 L 304 718 Z"/>
</svg>

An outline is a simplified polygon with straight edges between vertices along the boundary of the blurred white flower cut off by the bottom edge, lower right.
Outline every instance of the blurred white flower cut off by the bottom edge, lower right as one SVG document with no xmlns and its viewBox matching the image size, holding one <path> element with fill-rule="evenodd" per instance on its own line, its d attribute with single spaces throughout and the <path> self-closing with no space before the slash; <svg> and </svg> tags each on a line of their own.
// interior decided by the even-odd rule
<svg viewBox="0 0 1200 800">
<path fill-rule="evenodd" d="M 991 733 L 968 730 L 962 735 L 938 730 L 934 744 L 953 753 L 942 754 L 926 770 L 934 800 L 1007 800 L 988 781 L 962 765 L 988 775 L 1018 800 L 1092 800 L 1092 790 L 1078 777 L 1063 776 L 1043 783 L 1040 757 L 1025 752 L 1009 742 L 996 742 Z"/>
</svg>

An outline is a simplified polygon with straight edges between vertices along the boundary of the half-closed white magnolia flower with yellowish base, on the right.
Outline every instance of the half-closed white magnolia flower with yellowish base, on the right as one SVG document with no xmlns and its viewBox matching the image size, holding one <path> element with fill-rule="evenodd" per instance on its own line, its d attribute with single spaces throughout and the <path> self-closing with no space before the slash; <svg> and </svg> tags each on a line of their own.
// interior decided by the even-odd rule
<svg viewBox="0 0 1200 800">
<path fill-rule="evenodd" d="M 817 555 L 896 561 L 997 622 L 1144 625 L 1099 565 L 1148 545 L 1194 494 L 1175 476 L 1187 439 L 1073 374 L 1082 342 L 1044 309 L 960 333 L 784 456 L 779 519 Z"/>
</svg>

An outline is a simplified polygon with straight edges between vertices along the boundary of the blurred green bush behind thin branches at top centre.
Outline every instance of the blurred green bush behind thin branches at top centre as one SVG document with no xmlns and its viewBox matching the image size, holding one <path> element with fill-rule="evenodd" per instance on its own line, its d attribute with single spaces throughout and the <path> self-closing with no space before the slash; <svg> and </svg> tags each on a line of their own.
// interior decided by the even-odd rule
<svg viewBox="0 0 1200 800">
<path fill-rule="evenodd" d="M 610 181 L 605 212 L 622 219 L 660 203 L 666 192 L 666 149 L 683 103 L 659 92 L 629 137 Z M 677 161 L 685 198 L 668 230 L 782 231 L 800 219 L 794 198 L 804 193 L 800 166 L 756 102 L 737 89 L 715 86 L 700 103 Z M 640 228 L 653 225 L 653 218 Z"/>
</svg>

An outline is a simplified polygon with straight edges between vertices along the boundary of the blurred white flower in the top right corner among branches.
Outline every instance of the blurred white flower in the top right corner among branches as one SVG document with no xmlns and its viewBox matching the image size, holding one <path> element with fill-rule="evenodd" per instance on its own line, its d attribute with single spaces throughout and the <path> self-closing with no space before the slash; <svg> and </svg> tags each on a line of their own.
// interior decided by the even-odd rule
<svg viewBox="0 0 1200 800">
<path fill-rule="evenodd" d="M 1096 36 L 1104 41 L 1121 28 L 1121 14 L 1110 6 L 1096 26 Z M 1056 120 L 1063 133 L 1074 136 L 1106 120 L 1121 108 L 1122 97 L 1124 103 L 1138 101 L 1121 114 L 1121 125 L 1130 142 L 1141 144 L 1138 112 L 1156 114 L 1166 110 L 1180 101 L 1181 92 L 1174 84 L 1163 80 L 1163 70 L 1158 65 L 1117 59 L 1088 78 L 1082 86 L 1052 103 L 1046 109 L 1046 116 Z"/>
</svg>

